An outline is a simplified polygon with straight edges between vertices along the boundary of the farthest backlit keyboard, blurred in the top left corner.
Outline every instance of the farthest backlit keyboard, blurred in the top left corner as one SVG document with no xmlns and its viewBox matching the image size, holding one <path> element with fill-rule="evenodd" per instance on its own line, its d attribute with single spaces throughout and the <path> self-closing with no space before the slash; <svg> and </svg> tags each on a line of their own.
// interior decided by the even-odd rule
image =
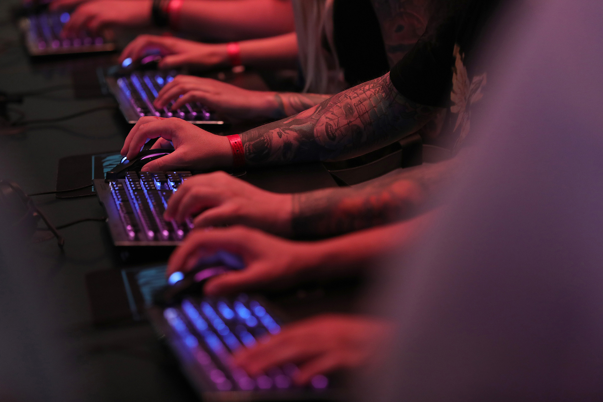
<svg viewBox="0 0 603 402">
<path fill-rule="evenodd" d="M 69 13 L 44 12 L 21 20 L 21 30 L 25 35 L 25 45 L 32 56 L 60 55 L 115 50 L 115 43 L 102 36 L 82 33 L 75 39 L 61 39 L 63 25 L 69 20 Z"/>
</svg>

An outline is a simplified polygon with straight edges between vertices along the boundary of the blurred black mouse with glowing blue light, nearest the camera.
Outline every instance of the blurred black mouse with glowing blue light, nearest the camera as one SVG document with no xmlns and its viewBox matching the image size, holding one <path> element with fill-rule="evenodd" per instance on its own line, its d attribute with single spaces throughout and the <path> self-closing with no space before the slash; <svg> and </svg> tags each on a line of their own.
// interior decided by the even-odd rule
<svg viewBox="0 0 603 402">
<path fill-rule="evenodd" d="M 239 256 L 227 251 L 218 251 L 213 256 L 200 259 L 189 272 L 176 271 L 171 274 L 168 284 L 156 292 L 153 301 L 162 307 L 180 303 L 188 295 L 202 294 L 203 286 L 209 278 L 244 267 L 245 264 Z"/>
</svg>

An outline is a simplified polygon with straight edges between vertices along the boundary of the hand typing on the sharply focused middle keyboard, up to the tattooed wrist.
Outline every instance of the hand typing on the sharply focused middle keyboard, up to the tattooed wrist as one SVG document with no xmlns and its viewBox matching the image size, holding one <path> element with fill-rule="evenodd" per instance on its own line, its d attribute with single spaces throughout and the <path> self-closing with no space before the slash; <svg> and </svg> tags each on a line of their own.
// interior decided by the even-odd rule
<svg viewBox="0 0 603 402">
<path fill-rule="evenodd" d="M 198 228 L 242 224 L 288 236 L 291 194 L 265 191 L 225 172 L 198 174 L 171 196 L 165 219 L 180 223 L 194 215 Z"/>
</svg>

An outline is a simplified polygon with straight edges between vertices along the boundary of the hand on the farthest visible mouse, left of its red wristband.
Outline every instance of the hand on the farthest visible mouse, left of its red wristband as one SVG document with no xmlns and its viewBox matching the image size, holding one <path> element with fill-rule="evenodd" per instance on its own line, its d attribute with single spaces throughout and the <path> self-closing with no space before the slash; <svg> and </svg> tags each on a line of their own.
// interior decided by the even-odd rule
<svg viewBox="0 0 603 402">
<path fill-rule="evenodd" d="M 148 49 L 159 49 L 163 55 L 158 64 L 160 69 L 185 65 L 199 69 L 228 66 L 230 62 L 226 46 L 226 43 L 209 44 L 170 36 L 140 35 L 121 52 L 119 63 L 128 57 L 138 60 L 144 57 Z"/>
</svg>

